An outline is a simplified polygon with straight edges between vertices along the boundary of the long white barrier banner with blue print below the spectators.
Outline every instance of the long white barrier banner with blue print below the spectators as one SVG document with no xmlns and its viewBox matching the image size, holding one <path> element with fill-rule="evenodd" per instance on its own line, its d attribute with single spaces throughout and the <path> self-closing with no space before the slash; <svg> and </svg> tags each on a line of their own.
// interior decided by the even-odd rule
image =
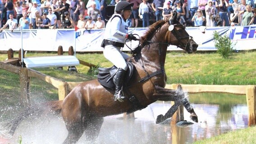
<svg viewBox="0 0 256 144">
<path fill-rule="evenodd" d="M 129 28 L 129 33 L 143 36 L 147 28 Z M 256 39 L 256 25 L 249 27 L 206 27 L 205 33 L 202 33 L 198 27 L 187 27 L 187 33 L 193 37 L 193 39 L 199 45 L 197 50 L 217 50 L 214 46 L 213 32 L 217 31 L 220 35 L 228 34 L 230 39 L 236 43 L 235 48 L 237 50 L 256 49 L 254 41 Z M 79 29 L 78 38 L 75 38 L 74 29 L 37 29 L 37 30 L 25 30 L 23 31 L 21 38 L 21 32 L 15 30 L 3 31 L 0 33 L 0 50 L 24 50 L 32 51 L 57 51 L 59 45 L 63 47 L 64 51 L 69 50 L 69 46 L 77 52 L 90 52 L 90 51 L 102 51 L 101 42 L 104 39 L 105 29 L 99 30 L 85 30 Z M 23 42 L 22 42 L 23 41 Z M 245 43 L 247 45 L 245 45 Z M 138 41 L 127 42 L 128 47 L 134 49 L 138 45 Z M 127 46 L 123 50 L 129 51 Z M 176 46 L 170 45 L 168 50 L 182 50 Z"/>
</svg>

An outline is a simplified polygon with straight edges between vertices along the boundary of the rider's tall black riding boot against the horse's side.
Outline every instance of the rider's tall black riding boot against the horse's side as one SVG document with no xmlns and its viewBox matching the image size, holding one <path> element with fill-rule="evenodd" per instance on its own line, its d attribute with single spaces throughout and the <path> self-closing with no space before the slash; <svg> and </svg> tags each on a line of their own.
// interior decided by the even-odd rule
<svg viewBox="0 0 256 144">
<path fill-rule="evenodd" d="M 123 77 L 125 74 L 125 70 L 122 68 L 119 68 L 116 74 L 116 80 L 115 80 L 115 92 L 114 92 L 114 101 L 118 100 L 119 102 L 123 102 L 123 99 L 125 98 L 123 96 L 122 86 L 123 86 Z"/>
</svg>

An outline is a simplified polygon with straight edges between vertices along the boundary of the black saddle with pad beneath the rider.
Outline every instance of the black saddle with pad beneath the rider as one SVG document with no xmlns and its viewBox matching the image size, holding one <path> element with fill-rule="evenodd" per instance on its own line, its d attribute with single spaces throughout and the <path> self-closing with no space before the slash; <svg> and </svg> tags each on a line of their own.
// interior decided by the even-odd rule
<svg viewBox="0 0 256 144">
<path fill-rule="evenodd" d="M 125 76 L 123 81 L 123 87 L 126 87 L 129 80 L 133 76 L 133 68 L 134 65 L 131 62 L 126 62 L 128 69 L 126 70 Z M 103 68 L 99 67 L 98 68 L 99 73 L 97 75 L 98 81 L 101 83 L 101 85 L 110 88 L 112 90 L 115 90 L 115 79 L 116 79 L 116 73 L 118 68 L 116 66 L 113 67 L 108 67 L 108 68 Z"/>
</svg>

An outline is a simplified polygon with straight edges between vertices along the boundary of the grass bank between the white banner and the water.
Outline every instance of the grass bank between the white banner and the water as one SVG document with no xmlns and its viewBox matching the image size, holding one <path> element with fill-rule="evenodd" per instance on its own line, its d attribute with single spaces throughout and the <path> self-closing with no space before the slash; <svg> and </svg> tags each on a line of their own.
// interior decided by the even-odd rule
<svg viewBox="0 0 256 144">
<path fill-rule="evenodd" d="M 56 55 L 56 53 L 31 53 L 25 57 Z M 18 54 L 15 54 L 18 57 Z M 79 54 L 77 57 L 92 64 L 110 67 L 112 64 L 103 54 Z M 165 71 L 167 83 L 208 84 L 208 85 L 254 85 L 256 84 L 256 51 L 233 53 L 224 59 L 216 52 L 185 54 L 169 52 L 166 55 Z M 0 54 L 0 61 L 5 60 L 7 54 Z M 67 70 L 68 67 L 64 67 Z M 68 81 L 86 81 L 89 67 L 77 66 L 79 74 L 66 74 L 53 68 L 37 68 L 36 70 Z M 63 73 L 63 75 L 61 74 Z M 72 77 L 73 76 L 73 77 Z M 80 79 L 80 77 L 83 77 Z"/>
</svg>

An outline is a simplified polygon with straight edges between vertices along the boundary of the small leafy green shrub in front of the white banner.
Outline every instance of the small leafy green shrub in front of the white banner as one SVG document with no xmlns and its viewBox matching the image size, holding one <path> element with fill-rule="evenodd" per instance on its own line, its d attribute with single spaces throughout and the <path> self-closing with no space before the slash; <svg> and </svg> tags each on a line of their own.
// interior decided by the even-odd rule
<svg viewBox="0 0 256 144">
<path fill-rule="evenodd" d="M 230 54 L 235 50 L 233 47 L 236 45 L 236 43 L 233 44 L 227 34 L 220 36 L 219 32 L 214 31 L 213 38 L 215 42 L 214 46 L 218 49 L 217 53 L 220 54 L 223 58 L 228 58 Z"/>
</svg>

